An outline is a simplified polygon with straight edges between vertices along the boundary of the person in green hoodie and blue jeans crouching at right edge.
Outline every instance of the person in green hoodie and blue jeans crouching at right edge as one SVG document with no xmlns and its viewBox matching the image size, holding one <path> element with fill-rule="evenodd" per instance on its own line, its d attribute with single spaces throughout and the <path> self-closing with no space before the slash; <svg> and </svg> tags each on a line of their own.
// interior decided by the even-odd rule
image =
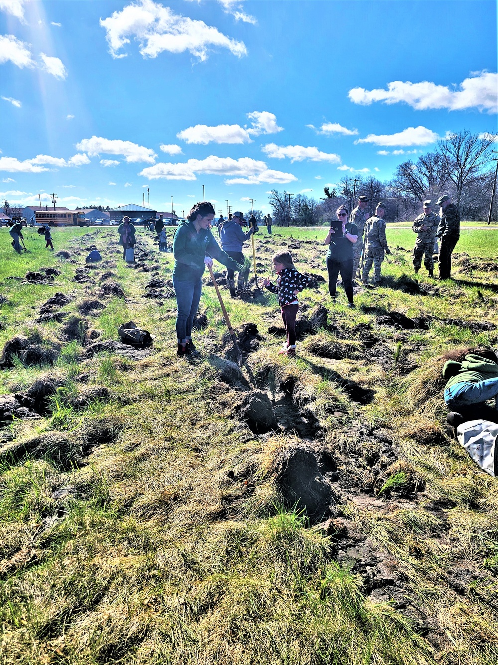
<svg viewBox="0 0 498 665">
<path fill-rule="evenodd" d="M 443 378 L 446 379 L 444 401 L 450 413 L 448 423 L 454 427 L 477 418 L 477 405 L 494 400 L 498 410 L 498 358 L 490 348 L 455 349 L 444 354 Z"/>
</svg>

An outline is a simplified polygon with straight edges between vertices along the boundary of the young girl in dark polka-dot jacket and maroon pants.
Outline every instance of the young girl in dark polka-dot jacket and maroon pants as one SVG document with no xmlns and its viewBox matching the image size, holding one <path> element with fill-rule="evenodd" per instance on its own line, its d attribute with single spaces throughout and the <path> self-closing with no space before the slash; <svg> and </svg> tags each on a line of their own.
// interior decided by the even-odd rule
<svg viewBox="0 0 498 665">
<path fill-rule="evenodd" d="M 297 294 L 307 287 L 310 278 L 297 272 L 288 251 L 277 253 L 272 261 L 278 274 L 277 285 L 265 279 L 263 286 L 272 293 L 278 293 L 278 304 L 282 307 L 282 319 L 287 331 L 287 342 L 280 353 L 292 357 L 295 356 L 295 319 L 299 309 Z"/>
</svg>

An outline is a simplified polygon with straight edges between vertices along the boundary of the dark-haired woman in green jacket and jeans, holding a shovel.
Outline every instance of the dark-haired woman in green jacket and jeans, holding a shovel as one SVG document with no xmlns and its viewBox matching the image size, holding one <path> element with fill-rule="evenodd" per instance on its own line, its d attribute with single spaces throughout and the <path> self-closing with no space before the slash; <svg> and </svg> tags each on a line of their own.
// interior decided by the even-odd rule
<svg viewBox="0 0 498 665">
<path fill-rule="evenodd" d="M 205 266 L 212 267 L 211 256 L 226 269 L 242 270 L 241 265 L 218 247 L 209 230 L 213 217 L 214 207 L 209 201 L 196 203 L 187 215 L 187 220 L 179 224 L 173 239 L 178 356 L 190 355 L 197 350 L 192 342 L 192 325 L 201 300 Z"/>
</svg>

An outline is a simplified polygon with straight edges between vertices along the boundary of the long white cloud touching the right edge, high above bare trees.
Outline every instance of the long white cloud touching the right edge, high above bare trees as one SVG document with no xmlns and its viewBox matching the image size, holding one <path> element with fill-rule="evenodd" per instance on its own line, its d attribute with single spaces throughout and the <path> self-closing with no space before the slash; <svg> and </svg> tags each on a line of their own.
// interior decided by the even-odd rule
<svg viewBox="0 0 498 665">
<path fill-rule="evenodd" d="M 459 90 L 436 85 L 429 81 L 420 83 L 392 81 L 387 84 L 387 90 L 352 88 L 349 90 L 349 99 L 355 104 L 367 106 L 372 102 L 385 102 L 386 104 L 406 102 L 416 110 L 448 108 L 448 110 L 454 111 L 477 108 L 488 113 L 496 112 L 498 108 L 498 74 L 486 70 L 474 72 L 474 74 L 465 78 L 457 86 L 460 88 Z"/>
</svg>

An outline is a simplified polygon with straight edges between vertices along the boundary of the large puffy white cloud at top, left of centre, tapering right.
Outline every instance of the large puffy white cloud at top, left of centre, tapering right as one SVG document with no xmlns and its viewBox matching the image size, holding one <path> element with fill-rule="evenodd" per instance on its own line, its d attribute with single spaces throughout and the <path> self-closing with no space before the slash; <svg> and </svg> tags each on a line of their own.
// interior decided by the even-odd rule
<svg viewBox="0 0 498 665">
<path fill-rule="evenodd" d="M 139 52 L 144 58 L 157 58 L 163 51 L 183 53 L 189 51 L 199 60 L 205 61 L 210 47 L 228 49 L 240 58 L 246 55 L 243 42 L 222 35 L 216 28 L 203 21 L 175 14 L 152 0 L 138 0 L 115 11 L 108 19 L 100 19 L 106 31 L 109 53 L 113 58 L 123 58 L 123 47 L 133 41 L 139 42 Z"/>
</svg>

